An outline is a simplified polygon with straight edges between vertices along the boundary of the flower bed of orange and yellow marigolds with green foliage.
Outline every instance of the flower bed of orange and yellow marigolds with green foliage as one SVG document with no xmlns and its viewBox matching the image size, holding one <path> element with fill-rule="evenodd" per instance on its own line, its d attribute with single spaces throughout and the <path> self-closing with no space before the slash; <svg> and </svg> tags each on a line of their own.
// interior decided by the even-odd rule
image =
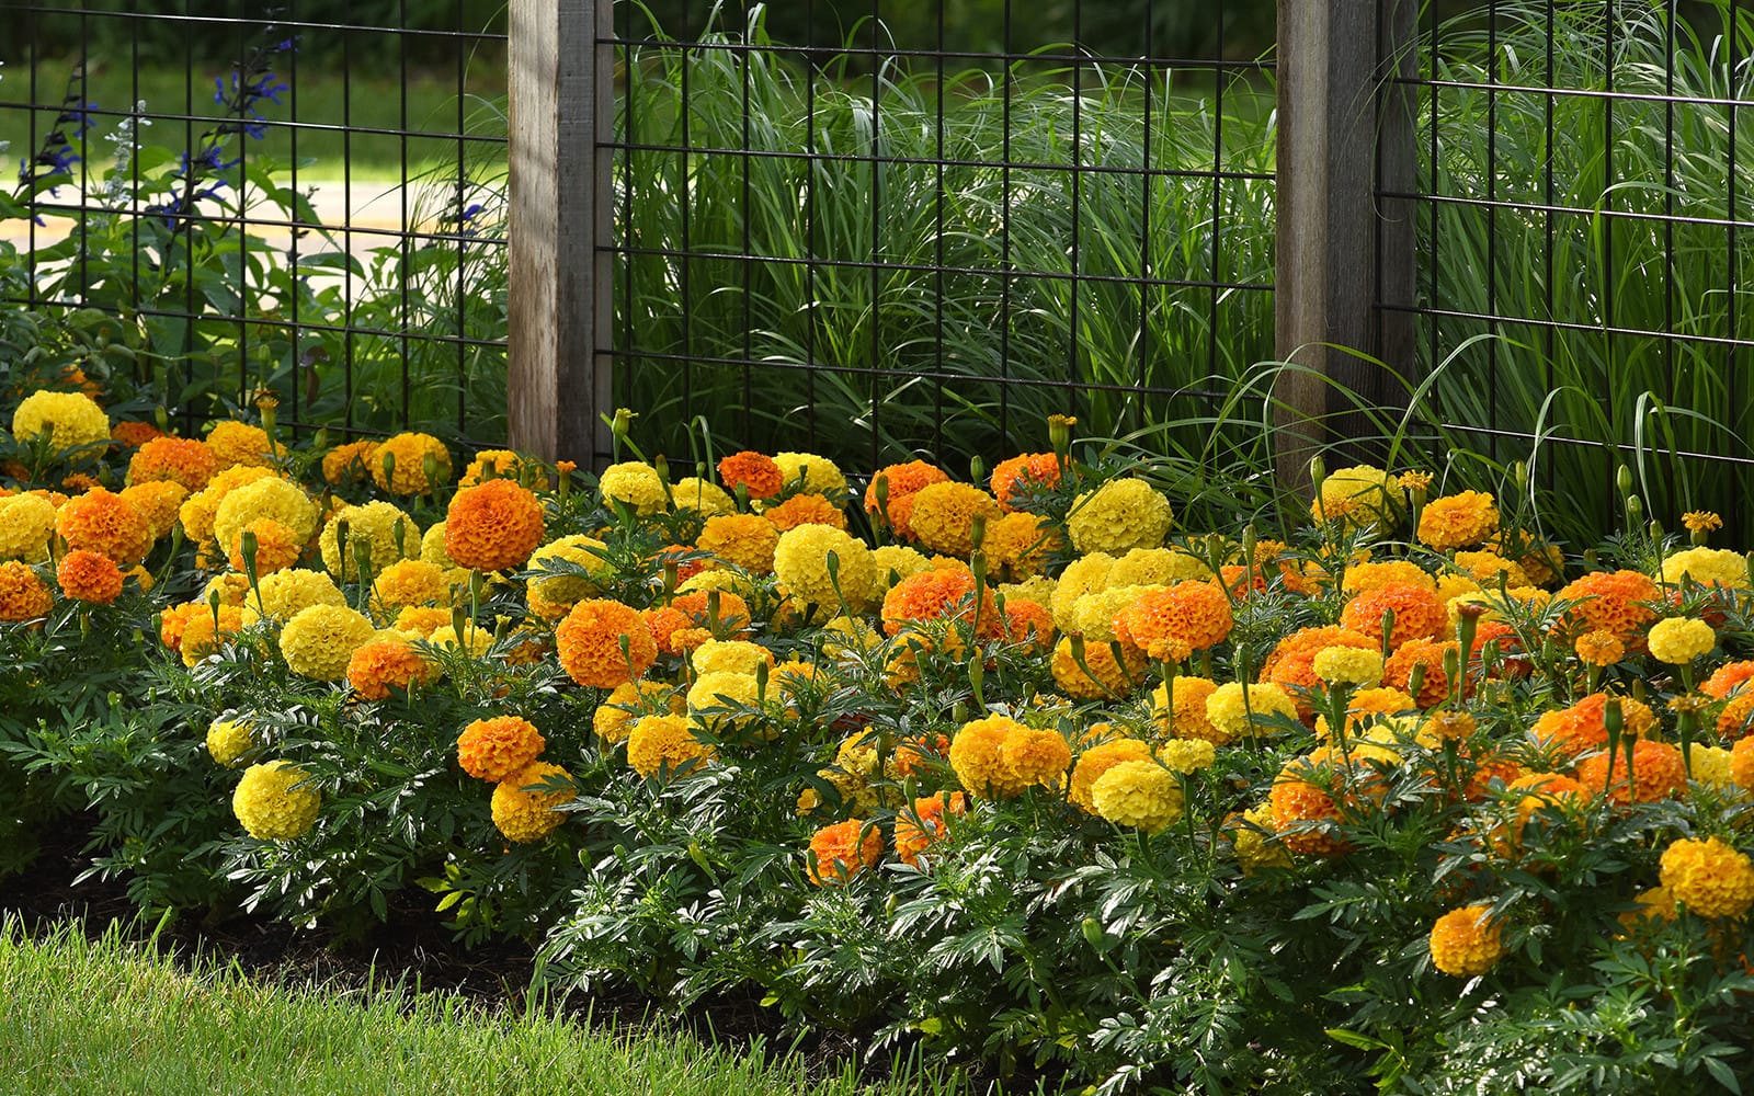
<svg viewBox="0 0 1754 1096">
<path fill-rule="evenodd" d="M 1750 584 L 1708 514 L 1628 498 L 1566 556 L 1358 466 L 1268 537 L 1177 528 L 1063 419 L 854 489 L 258 414 L 19 405 L 9 847 L 89 808 L 146 907 L 433 917 L 1098 1091 L 1749 1068 Z"/>
</svg>

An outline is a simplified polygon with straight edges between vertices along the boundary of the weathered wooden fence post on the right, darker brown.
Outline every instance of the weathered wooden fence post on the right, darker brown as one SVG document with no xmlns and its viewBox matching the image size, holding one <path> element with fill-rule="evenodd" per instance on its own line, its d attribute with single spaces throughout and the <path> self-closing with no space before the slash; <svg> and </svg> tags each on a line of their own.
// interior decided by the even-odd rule
<svg viewBox="0 0 1754 1096">
<path fill-rule="evenodd" d="M 1352 410 L 1405 407 L 1389 372 L 1415 372 L 1417 112 L 1396 75 L 1417 70 L 1417 0 L 1279 0 L 1279 479 L 1307 493 L 1330 440 L 1372 458 L 1379 430 Z M 1323 345 L 1333 344 L 1333 345 Z M 1372 361 L 1345 352 L 1375 358 Z"/>
</svg>

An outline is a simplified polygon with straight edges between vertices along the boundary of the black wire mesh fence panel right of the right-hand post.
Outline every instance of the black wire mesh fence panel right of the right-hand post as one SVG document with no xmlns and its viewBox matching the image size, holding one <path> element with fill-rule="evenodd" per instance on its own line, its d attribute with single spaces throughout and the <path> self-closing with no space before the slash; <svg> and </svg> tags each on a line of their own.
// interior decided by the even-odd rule
<svg viewBox="0 0 1754 1096">
<path fill-rule="evenodd" d="M 1750 7 L 1501 0 L 1421 19 L 1419 186 L 1380 196 L 1417 210 L 1435 410 L 1470 449 L 1572 486 L 1596 528 L 1622 517 L 1626 465 L 1666 528 L 1717 510 L 1754 531 Z"/>
</svg>

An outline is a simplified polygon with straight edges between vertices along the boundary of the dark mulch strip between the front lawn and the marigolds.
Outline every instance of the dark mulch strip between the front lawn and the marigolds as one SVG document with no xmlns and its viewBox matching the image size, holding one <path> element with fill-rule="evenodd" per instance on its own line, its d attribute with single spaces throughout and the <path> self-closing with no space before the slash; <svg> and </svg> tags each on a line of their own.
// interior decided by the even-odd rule
<svg viewBox="0 0 1754 1096">
<path fill-rule="evenodd" d="M 121 882 L 74 882 L 89 863 L 82 854 L 88 822 L 81 815 L 65 819 L 54 833 L 44 835 L 42 850 L 28 868 L 0 877 L 0 914 L 16 915 L 28 933 L 46 933 L 74 921 L 96 938 L 119 922 L 140 942 L 153 940 L 156 926 L 140 919 Z M 495 943 L 463 950 L 430 917 L 395 914 L 365 938 L 244 915 L 205 922 L 181 917 L 158 931 L 154 943 L 179 961 L 196 954 L 217 957 L 246 977 L 270 984 L 351 991 L 400 980 L 419 991 L 454 993 L 484 1007 L 521 1008 L 531 971 L 531 950 L 524 945 Z M 731 1047 L 749 1047 L 759 1038 L 770 1054 L 796 1045 L 807 1061 L 826 1070 L 856 1059 L 861 1049 L 856 1038 L 835 1033 L 796 1040 L 781 1017 L 754 996 L 719 996 L 679 1012 L 638 994 L 593 994 L 589 1000 L 568 1000 L 561 1010 L 581 1021 L 589 1017 L 598 1028 L 630 1028 L 661 1019 Z"/>
</svg>

